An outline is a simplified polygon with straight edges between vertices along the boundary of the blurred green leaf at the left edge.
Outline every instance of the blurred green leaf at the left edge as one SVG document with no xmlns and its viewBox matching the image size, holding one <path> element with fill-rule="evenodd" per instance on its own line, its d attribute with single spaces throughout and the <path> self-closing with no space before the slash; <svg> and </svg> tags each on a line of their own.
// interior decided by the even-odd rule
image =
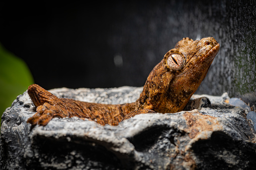
<svg viewBox="0 0 256 170">
<path fill-rule="evenodd" d="M 29 85 L 33 77 L 26 63 L 0 44 L 0 116 Z M 0 118 L 1 121 L 1 118 Z"/>
</svg>

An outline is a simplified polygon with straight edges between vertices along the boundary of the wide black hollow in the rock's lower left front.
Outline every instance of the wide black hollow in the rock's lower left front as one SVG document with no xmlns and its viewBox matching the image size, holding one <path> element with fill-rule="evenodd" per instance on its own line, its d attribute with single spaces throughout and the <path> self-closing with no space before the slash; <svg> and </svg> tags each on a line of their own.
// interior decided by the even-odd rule
<svg viewBox="0 0 256 170">
<path fill-rule="evenodd" d="M 36 151 L 39 158 L 34 156 L 29 164 L 28 169 L 37 169 L 40 164 L 41 167 L 60 168 L 90 168 L 97 169 L 124 169 L 119 158 L 106 149 L 106 147 L 92 141 L 84 141 L 84 139 L 75 139 L 75 141 L 67 142 L 67 137 L 60 137 L 58 139 L 48 138 L 38 135 L 34 137 L 32 148 Z"/>
</svg>

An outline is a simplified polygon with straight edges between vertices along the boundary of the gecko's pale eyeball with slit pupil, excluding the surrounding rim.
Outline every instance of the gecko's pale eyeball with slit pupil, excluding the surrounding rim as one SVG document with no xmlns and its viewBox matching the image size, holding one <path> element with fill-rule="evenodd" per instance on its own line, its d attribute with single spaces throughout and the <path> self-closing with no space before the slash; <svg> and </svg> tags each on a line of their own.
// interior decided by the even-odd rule
<svg viewBox="0 0 256 170">
<path fill-rule="evenodd" d="M 179 53 L 171 53 L 166 59 L 166 64 L 171 70 L 180 70 L 184 63 L 185 60 Z"/>
</svg>

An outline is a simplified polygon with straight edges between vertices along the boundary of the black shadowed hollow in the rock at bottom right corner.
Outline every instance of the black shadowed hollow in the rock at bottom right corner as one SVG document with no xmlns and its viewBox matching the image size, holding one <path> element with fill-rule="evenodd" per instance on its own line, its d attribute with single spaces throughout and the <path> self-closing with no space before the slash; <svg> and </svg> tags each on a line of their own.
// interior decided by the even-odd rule
<svg viewBox="0 0 256 170">
<path fill-rule="evenodd" d="M 244 145 L 222 131 L 214 131 L 211 138 L 198 140 L 192 145 L 199 169 L 211 169 L 213 164 L 214 169 L 255 167 L 255 149 L 255 145 Z"/>
</svg>

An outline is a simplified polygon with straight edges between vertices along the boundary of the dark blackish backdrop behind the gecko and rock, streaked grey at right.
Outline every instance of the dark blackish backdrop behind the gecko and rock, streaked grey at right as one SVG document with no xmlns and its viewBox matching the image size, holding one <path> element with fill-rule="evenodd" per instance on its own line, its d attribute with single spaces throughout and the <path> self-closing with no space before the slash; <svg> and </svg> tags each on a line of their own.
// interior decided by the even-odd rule
<svg viewBox="0 0 256 170">
<path fill-rule="evenodd" d="M 256 91 L 255 1 L 0 3 L 0 43 L 45 89 L 143 86 L 183 37 L 221 46 L 198 94 Z M 116 61 L 116 62 L 115 62 Z"/>
</svg>

